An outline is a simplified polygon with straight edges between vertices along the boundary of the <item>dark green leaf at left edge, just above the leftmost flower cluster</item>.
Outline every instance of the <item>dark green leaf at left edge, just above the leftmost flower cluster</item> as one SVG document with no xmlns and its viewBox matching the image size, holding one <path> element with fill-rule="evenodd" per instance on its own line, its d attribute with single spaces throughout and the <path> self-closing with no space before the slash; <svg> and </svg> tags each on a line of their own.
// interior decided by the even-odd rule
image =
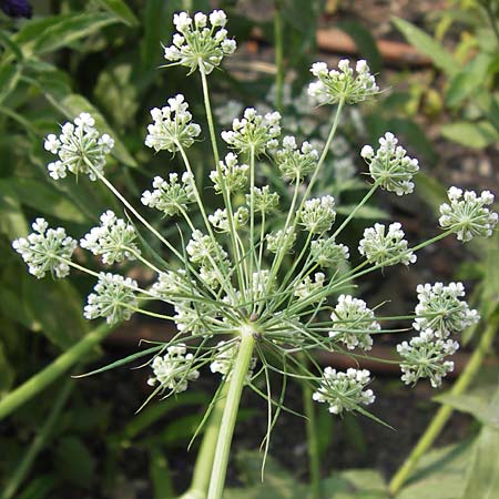
<svg viewBox="0 0 499 499">
<path fill-rule="evenodd" d="M 3 182 L 9 183 L 13 192 L 16 192 L 17 197 L 23 204 L 40 213 L 47 213 L 57 218 L 74 223 L 83 223 L 86 221 L 86 217 L 70 200 L 49 187 L 47 183 L 26 177 L 0 180 L 0 185 Z"/>
</svg>

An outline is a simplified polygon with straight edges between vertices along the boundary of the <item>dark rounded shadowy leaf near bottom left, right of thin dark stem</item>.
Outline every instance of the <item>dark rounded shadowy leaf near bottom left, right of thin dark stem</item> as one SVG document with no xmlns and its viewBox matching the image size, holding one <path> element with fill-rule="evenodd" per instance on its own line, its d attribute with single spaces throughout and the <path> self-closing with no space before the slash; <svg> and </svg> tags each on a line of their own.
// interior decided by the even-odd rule
<svg viewBox="0 0 499 499">
<path fill-rule="evenodd" d="M 70 483 L 90 489 L 95 475 L 95 460 L 77 437 L 64 437 L 55 450 L 58 476 Z"/>
</svg>

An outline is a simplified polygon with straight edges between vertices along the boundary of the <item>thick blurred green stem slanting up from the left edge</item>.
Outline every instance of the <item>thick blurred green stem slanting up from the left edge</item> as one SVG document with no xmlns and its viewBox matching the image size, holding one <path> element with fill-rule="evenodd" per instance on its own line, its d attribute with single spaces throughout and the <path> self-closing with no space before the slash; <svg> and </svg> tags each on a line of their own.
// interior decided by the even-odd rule
<svg viewBox="0 0 499 499">
<path fill-rule="evenodd" d="M 111 330 L 112 329 L 108 324 L 102 324 L 96 327 L 91 333 L 85 335 L 84 338 L 80 339 L 80 342 L 60 355 L 43 370 L 35 374 L 10 394 L 6 395 L 0 400 L 0 420 L 9 416 L 24 403 L 34 397 L 38 393 L 55 381 L 55 379 L 58 379 L 71 366 L 81 360 L 82 356 L 86 355 L 94 346 L 99 345 L 111 333 Z"/>
</svg>

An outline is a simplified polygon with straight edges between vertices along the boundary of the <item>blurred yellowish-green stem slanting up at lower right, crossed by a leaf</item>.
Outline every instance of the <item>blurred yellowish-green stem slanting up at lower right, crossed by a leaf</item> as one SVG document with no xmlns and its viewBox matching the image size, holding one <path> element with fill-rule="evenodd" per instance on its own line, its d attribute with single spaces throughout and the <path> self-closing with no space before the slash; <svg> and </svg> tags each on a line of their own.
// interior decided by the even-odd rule
<svg viewBox="0 0 499 499">
<path fill-rule="evenodd" d="M 470 386 L 471 381 L 473 380 L 476 374 L 478 373 L 478 369 L 480 368 L 483 361 L 483 358 L 486 357 L 487 353 L 490 352 L 490 347 L 492 345 L 498 327 L 499 327 L 499 314 L 496 314 L 490 319 L 486 332 L 480 338 L 480 343 L 478 344 L 476 350 L 473 352 L 461 376 L 459 376 L 459 379 L 450 389 L 451 395 L 461 395 Z M 400 490 L 400 488 L 407 481 L 409 475 L 413 472 L 413 470 L 419 462 L 419 459 L 434 445 L 435 440 L 440 435 L 440 431 L 442 430 L 448 419 L 450 418 L 452 410 L 454 410 L 452 407 L 446 405 L 442 405 L 440 409 L 438 409 L 434 419 L 427 427 L 426 431 L 422 434 L 421 438 L 410 452 L 409 457 L 405 460 L 403 466 L 398 469 L 394 478 L 390 480 L 389 492 L 393 496 L 395 496 Z"/>
</svg>

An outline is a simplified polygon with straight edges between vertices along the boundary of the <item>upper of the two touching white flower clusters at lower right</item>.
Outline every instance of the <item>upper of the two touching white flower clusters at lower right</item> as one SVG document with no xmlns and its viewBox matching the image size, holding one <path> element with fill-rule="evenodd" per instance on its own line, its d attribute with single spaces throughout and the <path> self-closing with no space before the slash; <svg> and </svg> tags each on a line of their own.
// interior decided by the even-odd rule
<svg viewBox="0 0 499 499">
<path fill-rule="evenodd" d="M 451 333 L 459 333 L 480 318 L 477 310 L 470 309 L 460 299 L 465 296 L 462 283 L 420 284 L 416 288 L 418 305 L 413 324 L 417 330 L 431 329 L 436 337 L 447 338 Z"/>
</svg>

